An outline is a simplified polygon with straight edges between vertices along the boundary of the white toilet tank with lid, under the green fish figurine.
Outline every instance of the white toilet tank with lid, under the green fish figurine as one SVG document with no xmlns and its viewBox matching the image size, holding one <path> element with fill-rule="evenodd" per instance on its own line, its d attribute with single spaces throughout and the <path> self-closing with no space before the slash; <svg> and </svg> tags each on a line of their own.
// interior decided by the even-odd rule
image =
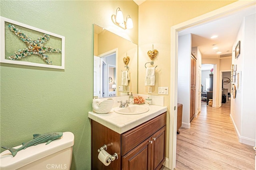
<svg viewBox="0 0 256 170">
<path fill-rule="evenodd" d="M 74 134 L 63 132 L 62 137 L 45 145 L 40 143 L 20 150 L 12 156 L 9 150 L 0 154 L 1 170 L 70 170 Z M 21 147 L 17 146 L 14 148 Z"/>
</svg>

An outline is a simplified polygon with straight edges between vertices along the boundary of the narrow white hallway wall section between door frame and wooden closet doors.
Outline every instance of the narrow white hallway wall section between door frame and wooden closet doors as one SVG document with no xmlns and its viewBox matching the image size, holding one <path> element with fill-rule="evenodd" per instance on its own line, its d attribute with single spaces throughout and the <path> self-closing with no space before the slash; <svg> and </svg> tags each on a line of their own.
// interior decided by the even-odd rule
<svg viewBox="0 0 256 170">
<path fill-rule="evenodd" d="M 182 127 L 185 128 L 190 128 L 190 56 L 191 34 L 186 34 L 178 42 L 178 103 L 183 105 Z"/>
</svg>

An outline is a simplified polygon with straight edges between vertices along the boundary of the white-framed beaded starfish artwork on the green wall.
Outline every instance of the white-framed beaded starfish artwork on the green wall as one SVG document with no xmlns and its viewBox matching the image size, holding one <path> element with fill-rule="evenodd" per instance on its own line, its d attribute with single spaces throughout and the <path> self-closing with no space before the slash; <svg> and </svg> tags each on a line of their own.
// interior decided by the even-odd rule
<svg viewBox="0 0 256 170">
<path fill-rule="evenodd" d="M 0 62 L 64 69 L 65 37 L 0 18 Z"/>
</svg>

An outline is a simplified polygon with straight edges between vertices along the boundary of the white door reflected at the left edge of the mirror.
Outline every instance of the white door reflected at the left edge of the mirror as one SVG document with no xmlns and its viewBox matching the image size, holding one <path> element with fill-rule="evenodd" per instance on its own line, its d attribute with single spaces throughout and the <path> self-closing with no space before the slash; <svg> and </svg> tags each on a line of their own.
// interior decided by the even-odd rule
<svg viewBox="0 0 256 170">
<path fill-rule="evenodd" d="M 94 56 L 93 96 L 100 97 L 100 57 Z"/>
</svg>

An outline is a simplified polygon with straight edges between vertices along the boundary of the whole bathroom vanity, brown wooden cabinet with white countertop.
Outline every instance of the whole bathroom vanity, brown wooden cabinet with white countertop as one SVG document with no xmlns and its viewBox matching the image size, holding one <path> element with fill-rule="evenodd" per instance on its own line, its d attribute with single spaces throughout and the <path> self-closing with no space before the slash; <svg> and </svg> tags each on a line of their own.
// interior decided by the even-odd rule
<svg viewBox="0 0 256 170">
<path fill-rule="evenodd" d="M 165 161 L 165 106 L 148 106 L 150 110 L 138 115 L 89 112 L 91 119 L 93 170 L 159 170 Z M 98 149 L 107 146 L 109 154 L 118 159 L 105 166 L 98 159 Z"/>
</svg>

